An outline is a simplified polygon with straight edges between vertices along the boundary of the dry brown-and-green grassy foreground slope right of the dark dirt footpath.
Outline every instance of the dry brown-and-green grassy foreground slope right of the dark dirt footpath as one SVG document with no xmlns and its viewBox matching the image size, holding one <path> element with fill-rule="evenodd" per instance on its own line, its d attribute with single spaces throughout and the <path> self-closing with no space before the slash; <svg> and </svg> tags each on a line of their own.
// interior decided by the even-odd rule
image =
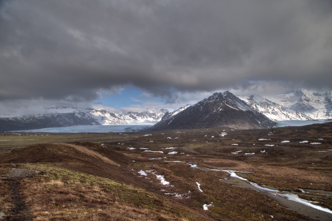
<svg viewBox="0 0 332 221">
<path fill-rule="evenodd" d="M 25 178 L 21 183 L 34 220 L 209 219 L 195 211 L 183 210 L 183 206 L 166 197 L 106 178 L 51 165 L 23 167 L 48 171 L 43 176 Z"/>
</svg>

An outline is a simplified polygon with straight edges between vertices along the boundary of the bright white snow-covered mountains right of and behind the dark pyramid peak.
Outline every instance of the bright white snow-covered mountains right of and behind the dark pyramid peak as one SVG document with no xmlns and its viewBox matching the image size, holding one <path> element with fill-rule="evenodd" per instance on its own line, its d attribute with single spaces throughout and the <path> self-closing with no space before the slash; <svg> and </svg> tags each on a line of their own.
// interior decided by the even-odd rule
<svg viewBox="0 0 332 221">
<path fill-rule="evenodd" d="M 280 101 L 272 102 L 259 96 L 238 96 L 251 108 L 271 120 L 309 120 L 332 117 L 331 92 L 316 92 L 296 89 L 277 95 Z"/>
</svg>

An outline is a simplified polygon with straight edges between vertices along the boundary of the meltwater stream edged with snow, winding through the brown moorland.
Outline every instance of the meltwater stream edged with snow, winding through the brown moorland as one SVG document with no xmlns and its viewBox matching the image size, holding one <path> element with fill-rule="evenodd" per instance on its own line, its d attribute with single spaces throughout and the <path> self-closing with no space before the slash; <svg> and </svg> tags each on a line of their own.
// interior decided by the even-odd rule
<svg viewBox="0 0 332 221">
<path fill-rule="evenodd" d="M 220 179 L 221 181 L 225 181 L 228 183 L 234 184 L 235 179 L 237 182 L 240 182 L 239 187 L 244 187 L 244 188 L 250 188 L 257 190 L 263 194 L 268 195 L 269 197 L 277 200 L 284 206 L 287 206 L 291 210 L 295 210 L 300 214 L 307 215 L 312 219 L 318 219 L 322 221 L 330 221 L 332 220 L 332 211 L 312 204 L 315 202 L 308 201 L 305 199 L 299 198 L 296 194 L 293 194 L 291 192 L 287 191 L 279 191 L 277 189 L 270 189 L 267 187 L 260 186 L 256 183 L 250 182 L 245 178 L 242 178 L 238 176 L 236 173 L 253 173 L 253 172 L 243 172 L 243 171 L 234 171 L 234 170 L 218 170 L 218 169 L 212 169 L 212 168 L 207 168 L 207 167 L 198 167 L 196 164 L 193 163 L 188 163 L 188 162 L 183 162 L 183 161 L 165 161 L 165 162 L 178 162 L 178 163 L 186 163 L 190 165 L 193 169 L 199 169 L 203 171 L 224 171 L 229 173 L 229 177 L 225 179 Z"/>
</svg>

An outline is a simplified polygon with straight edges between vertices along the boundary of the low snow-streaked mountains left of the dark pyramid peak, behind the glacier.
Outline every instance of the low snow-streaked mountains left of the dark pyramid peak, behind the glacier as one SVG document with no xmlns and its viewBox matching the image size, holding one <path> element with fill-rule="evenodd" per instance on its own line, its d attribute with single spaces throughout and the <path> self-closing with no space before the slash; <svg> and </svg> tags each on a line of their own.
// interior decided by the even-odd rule
<svg viewBox="0 0 332 221">
<path fill-rule="evenodd" d="M 161 120 L 167 111 L 113 113 L 106 110 L 57 107 L 47 110 L 47 114 L 30 114 L 0 117 L 0 131 L 30 130 L 47 127 L 67 127 L 79 125 L 147 124 Z"/>
</svg>

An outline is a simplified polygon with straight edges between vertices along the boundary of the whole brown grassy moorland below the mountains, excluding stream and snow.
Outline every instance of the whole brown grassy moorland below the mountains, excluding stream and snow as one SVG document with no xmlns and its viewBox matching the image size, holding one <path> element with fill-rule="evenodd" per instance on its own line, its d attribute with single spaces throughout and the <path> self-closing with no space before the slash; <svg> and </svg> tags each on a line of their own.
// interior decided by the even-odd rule
<svg viewBox="0 0 332 221">
<path fill-rule="evenodd" d="M 187 163 L 252 172 L 237 175 L 332 210 L 331 123 L 261 130 L 0 135 L 0 220 L 330 218 L 329 213 L 294 211 L 243 188 L 227 172 Z M 168 154 L 173 151 L 177 153 Z M 204 204 L 211 206 L 204 210 Z"/>
</svg>

